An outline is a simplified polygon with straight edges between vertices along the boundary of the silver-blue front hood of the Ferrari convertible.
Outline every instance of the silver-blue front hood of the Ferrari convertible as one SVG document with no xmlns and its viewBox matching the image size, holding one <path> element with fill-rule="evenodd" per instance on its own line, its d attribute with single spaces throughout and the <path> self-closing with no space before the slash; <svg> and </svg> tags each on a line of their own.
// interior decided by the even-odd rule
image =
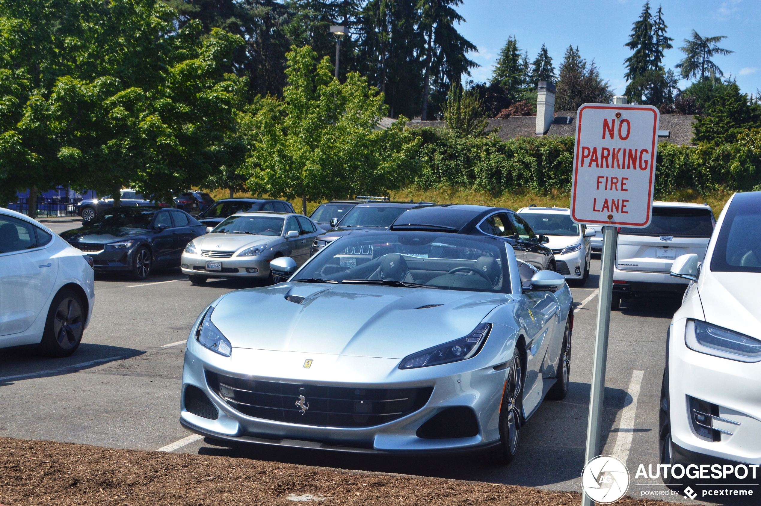
<svg viewBox="0 0 761 506">
<path fill-rule="evenodd" d="M 212 322 L 234 348 L 404 358 L 470 333 L 505 294 L 282 283 L 225 295 Z"/>
</svg>

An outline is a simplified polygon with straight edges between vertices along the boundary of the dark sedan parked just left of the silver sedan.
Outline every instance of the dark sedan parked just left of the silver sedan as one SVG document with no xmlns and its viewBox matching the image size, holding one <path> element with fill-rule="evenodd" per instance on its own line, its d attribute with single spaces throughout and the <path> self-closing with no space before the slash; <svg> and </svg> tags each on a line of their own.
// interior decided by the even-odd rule
<svg viewBox="0 0 761 506">
<path fill-rule="evenodd" d="M 60 235 L 92 257 L 96 272 L 123 271 L 145 279 L 151 269 L 179 267 L 187 243 L 205 231 L 179 209 L 135 206 L 108 209 Z"/>
</svg>

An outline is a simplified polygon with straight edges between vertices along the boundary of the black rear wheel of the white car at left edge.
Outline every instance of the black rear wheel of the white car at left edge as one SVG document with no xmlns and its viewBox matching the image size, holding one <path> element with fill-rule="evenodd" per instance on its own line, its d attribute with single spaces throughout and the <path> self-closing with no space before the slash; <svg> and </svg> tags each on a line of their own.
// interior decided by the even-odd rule
<svg viewBox="0 0 761 506">
<path fill-rule="evenodd" d="M 48 357 L 68 357 L 77 351 L 87 313 L 75 291 L 65 288 L 50 303 L 43 339 L 37 349 Z"/>
</svg>

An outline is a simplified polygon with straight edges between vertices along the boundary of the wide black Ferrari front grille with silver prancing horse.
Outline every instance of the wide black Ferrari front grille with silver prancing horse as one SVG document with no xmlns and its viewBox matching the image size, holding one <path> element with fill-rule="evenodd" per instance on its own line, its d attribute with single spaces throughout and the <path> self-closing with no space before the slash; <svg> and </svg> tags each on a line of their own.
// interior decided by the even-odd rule
<svg viewBox="0 0 761 506">
<path fill-rule="evenodd" d="M 244 415 L 323 427 L 372 427 L 391 422 L 425 406 L 433 392 L 431 387 L 325 387 L 244 380 L 210 371 L 206 371 L 206 382 Z M 308 406 L 303 413 L 296 404 L 300 396 Z"/>
</svg>

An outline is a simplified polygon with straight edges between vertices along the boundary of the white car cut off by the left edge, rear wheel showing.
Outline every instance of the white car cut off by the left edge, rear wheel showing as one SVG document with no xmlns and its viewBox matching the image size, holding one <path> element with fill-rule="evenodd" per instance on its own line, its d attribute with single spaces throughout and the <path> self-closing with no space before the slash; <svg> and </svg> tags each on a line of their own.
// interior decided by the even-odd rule
<svg viewBox="0 0 761 506">
<path fill-rule="evenodd" d="M 76 351 L 95 301 L 93 260 L 43 224 L 0 208 L 0 348 Z"/>
</svg>

